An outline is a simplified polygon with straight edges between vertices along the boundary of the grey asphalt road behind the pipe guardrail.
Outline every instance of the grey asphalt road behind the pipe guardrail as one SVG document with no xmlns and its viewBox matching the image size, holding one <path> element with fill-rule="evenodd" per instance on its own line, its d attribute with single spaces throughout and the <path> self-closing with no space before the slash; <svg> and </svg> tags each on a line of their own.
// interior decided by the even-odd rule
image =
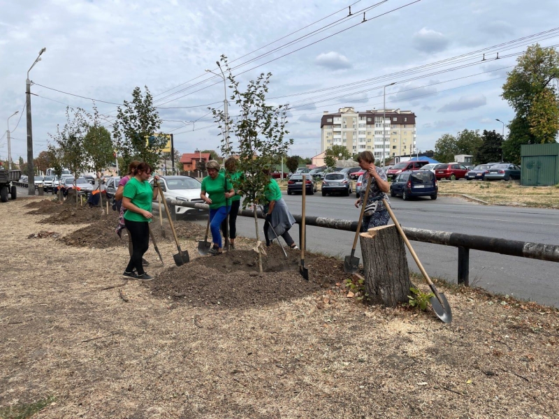
<svg viewBox="0 0 559 419">
<path fill-rule="evenodd" d="M 17 192 L 27 195 L 27 189 L 18 188 Z M 287 196 L 284 193 L 284 200 L 293 214 L 300 214 L 300 195 Z M 351 197 L 323 197 L 315 193 L 307 196 L 307 215 L 357 219 L 355 200 L 355 194 Z M 437 200 L 419 198 L 412 201 L 391 198 L 391 203 L 398 221 L 406 227 L 559 244 L 557 210 L 477 205 L 444 196 Z M 193 221 L 205 225 L 203 218 Z M 263 221 L 259 220 L 259 223 L 262 232 Z M 253 219 L 239 217 L 237 226 L 240 235 L 256 237 Z M 298 228 L 294 227 L 290 233 L 298 242 Z M 354 233 L 346 231 L 307 227 L 307 249 L 310 251 L 343 257 L 351 252 L 353 238 Z M 412 242 L 412 245 L 430 276 L 456 283 L 458 249 L 421 242 Z M 359 246 L 356 256 L 361 258 Z M 408 263 L 412 271 L 419 272 L 409 253 Z M 471 250 L 470 284 L 559 307 L 558 263 Z"/>
</svg>

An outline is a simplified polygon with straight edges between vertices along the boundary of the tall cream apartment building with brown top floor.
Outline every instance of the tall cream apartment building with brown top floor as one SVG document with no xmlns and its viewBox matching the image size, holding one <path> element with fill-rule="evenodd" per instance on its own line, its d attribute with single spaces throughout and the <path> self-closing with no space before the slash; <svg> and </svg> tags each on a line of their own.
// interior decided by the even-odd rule
<svg viewBox="0 0 559 419">
<path fill-rule="evenodd" d="M 383 122 L 382 109 L 358 112 L 348 106 L 333 114 L 324 111 L 320 122 L 321 152 L 333 145 L 342 145 L 347 147 L 351 154 L 370 150 L 378 159 L 382 159 L 383 151 L 385 159 L 414 153 L 414 112 L 386 109 L 384 113 L 386 119 Z"/>
</svg>

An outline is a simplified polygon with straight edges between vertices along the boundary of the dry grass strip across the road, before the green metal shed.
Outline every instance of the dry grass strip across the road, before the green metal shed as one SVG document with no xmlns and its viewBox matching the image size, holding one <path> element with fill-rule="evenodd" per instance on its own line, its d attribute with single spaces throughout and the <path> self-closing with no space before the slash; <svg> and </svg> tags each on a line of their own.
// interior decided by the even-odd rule
<svg viewBox="0 0 559 419">
<path fill-rule="evenodd" d="M 439 182 L 440 194 L 465 194 L 492 205 L 514 205 L 559 209 L 559 188 L 556 186 L 521 186 L 518 181 Z"/>
</svg>

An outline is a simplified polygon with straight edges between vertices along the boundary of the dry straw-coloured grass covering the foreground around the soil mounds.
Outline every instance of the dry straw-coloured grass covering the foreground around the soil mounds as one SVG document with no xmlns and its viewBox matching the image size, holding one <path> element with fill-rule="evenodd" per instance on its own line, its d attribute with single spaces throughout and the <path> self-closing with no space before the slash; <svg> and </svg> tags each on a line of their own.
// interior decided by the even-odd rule
<svg viewBox="0 0 559 419">
<path fill-rule="evenodd" d="M 44 216 L 24 203 L 0 205 L 3 408 L 55 397 L 34 418 L 559 417 L 555 309 L 456 287 L 450 325 L 336 287 L 193 307 L 119 277 L 124 249 L 27 240 Z"/>
</svg>

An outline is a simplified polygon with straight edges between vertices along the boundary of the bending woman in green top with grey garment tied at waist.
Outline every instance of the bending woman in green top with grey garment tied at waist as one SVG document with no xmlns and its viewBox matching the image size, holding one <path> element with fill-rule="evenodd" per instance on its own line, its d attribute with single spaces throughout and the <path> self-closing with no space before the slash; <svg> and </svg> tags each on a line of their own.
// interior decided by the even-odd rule
<svg viewBox="0 0 559 419">
<path fill-rule="evenodd" d="M 289 229 L 295 223 L 295 219 L 289 208 L 282 198 L 282 191 L 279 190 L 279 185 L 273 177 L 270 178 L 270 183 L 264 189 L 264 196 L 268 201 L 264 205 L 264 213 L 266 214 L 266 221 L 264 222 L 264 237 L 266 237 L 266 246 L 270 246 L 270 237 L 275 239 L 276 235 L 282 236 L 291 249 L 298 249 L 297 245 L 291 235 Z M 273 228 L 274 231 L 271 231 Z M 275 233 L 275 234 L 274 234 Z"/>
</svg>

